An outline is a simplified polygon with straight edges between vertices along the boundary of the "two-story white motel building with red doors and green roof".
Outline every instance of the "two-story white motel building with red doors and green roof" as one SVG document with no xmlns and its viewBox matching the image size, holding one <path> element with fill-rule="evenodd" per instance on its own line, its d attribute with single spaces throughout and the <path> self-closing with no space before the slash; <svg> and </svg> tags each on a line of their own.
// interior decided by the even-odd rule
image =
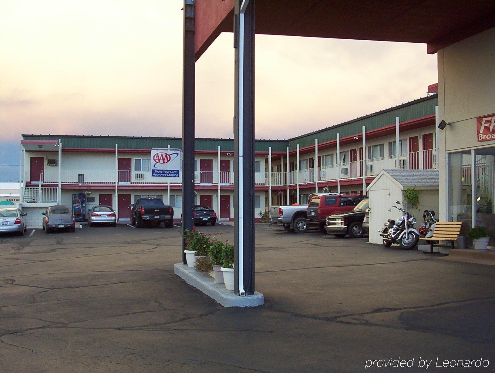
<svg viewBox="0 0 495 373">
<path fill-rule="evenodd" d="M 305 204 L 326 186 L 363 193 L 382 169 L 437 168 L 437 105 L 433 93 L 288 140 L 256 140 L 255 218 L 271 204 Z M 180 138 L 24 134 L 21 145 L 21 206 L 32 212 L 31 226 L 41 224 L 47 206 L 71 206 L 80 193 L 86 218 L 100 204 L 129 221 L 129 205 L 153 196 L 174 207 L 180 219 L 181 180 L 152 177 L 150 171 L 151 149 L 180 148 Z M 196 139 L 196 203 L 215 209 L 221 220 L 234 216 L 233 150 L 232 139 Z"/>
</svg>

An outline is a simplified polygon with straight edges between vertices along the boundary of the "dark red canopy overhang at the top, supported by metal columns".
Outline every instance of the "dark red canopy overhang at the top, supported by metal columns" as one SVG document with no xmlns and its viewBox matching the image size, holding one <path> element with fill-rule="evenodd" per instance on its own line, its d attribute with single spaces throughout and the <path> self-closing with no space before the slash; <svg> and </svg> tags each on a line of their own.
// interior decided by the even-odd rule
<svg viewBox="0 0 495 373">
<path fill-rule="evenodd" d="M 196 59 L 234 29 L 234 0 L 196 1 Z M 256 3 L 256 34 L 402 41 L 428 53 L 495 27 L 493 0 L 270 0 Z"/>
</svg>

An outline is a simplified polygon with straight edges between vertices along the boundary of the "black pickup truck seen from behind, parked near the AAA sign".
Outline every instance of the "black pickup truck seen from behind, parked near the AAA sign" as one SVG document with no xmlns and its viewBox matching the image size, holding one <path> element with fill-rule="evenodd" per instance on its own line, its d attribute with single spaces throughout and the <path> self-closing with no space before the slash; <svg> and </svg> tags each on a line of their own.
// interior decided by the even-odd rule
<svg viewBox="0 0 495 373">
<path fill-rule="evenodd" d="M 174 209 L 165 206 L 159 198 L 140 198 L 131 207 L 131 223 L 138 228 L 143 228 L 145 223 L 155 227 L 165 223 L 167 228 L 174 224 Z"/>
</svg>

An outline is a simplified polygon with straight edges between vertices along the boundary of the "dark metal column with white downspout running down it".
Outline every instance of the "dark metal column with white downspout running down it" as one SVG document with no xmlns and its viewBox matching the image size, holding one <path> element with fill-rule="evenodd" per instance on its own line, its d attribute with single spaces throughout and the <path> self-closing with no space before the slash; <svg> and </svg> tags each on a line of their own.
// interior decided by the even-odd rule
<svg viewBox="0 0 495 373">
<path fill-rule="evenodd" d="M 235 1 L 234 291 L 254 293 L 254 2 Z"/>
</svg>

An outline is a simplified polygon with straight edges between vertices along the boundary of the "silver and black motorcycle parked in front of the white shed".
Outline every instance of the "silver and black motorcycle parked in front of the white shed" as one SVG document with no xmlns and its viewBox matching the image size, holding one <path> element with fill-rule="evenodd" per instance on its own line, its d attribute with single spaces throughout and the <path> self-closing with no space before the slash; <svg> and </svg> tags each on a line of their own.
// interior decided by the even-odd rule
<svg viewBox="0 0 495 373">
<path fill-rule="evenodd" d="M 396 204 L 400 205 L 400 202 L 396 201 Z M 407 212 L 404 207 L 394 207 L 402 211 L 404 215 L 396 220 L 387 220 L 380 232 L 380 236 L 383 237 L 383 246 L 390 248 L 392 244 L 399 244 L 402 249 L 413 249 L 419 242 L 419 232 L 414 229 L 416 218 Z"/>
</svg>

